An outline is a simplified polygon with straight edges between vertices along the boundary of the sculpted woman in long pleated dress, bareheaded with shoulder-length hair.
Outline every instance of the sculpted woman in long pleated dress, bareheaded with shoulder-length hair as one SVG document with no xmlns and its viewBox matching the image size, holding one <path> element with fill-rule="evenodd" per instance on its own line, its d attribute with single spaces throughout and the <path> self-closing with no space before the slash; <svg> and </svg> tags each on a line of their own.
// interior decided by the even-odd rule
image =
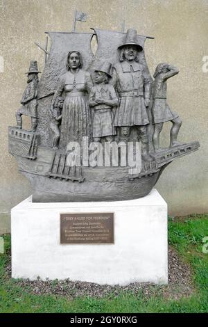
<svg viewBox="0 0 208 327">
<path fill-rule="evenodd" d="M 60 148 L 67 147 L 69 142 L 81 144 L 83 136 L 89 137 L 90 116 L 87 93 L 92 88 L 89 72 L 85 72 L 83 59 L 79 51 L 70 51 L 67 56 L 68 72 L 60 77 L 58 87 L 53 95 L 51 111 L 56 97 L 66 95 L 62 109 L 62 125 L 60 132 Z"/>
</svg>

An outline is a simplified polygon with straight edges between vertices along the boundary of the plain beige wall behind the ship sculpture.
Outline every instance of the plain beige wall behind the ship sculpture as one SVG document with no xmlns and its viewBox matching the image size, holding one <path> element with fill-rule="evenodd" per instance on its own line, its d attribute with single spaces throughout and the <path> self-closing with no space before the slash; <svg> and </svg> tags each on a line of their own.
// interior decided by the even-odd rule
<svg viewBox="0 0 208 327">
<path fill-rule="evenodd" d="M 89 13 L 87 23 L 77 23 L 78 31 L 94 26 L 118 31 L 125 18 L 126 29 L 134 27 L 140 34 L 155 36 L 146 41 L 151 74 L 159 62 L 180 67 L 180 74 L 168 83 L 168 104 L 183 120 L 180 140 L 198 140 L 201 146 L 198 152 L 171 163 L 157 190 L 168 202 L 170 214 L 207 212 L 208 72 L 202 72 L 202 58 L 208 56 L 207 0 L 0 0 L 0 56 L 4 58 L 0 212 L 9 213 L 31 193 L 28 180 L 17 172 L 17 163 L 8 154 L 7 128 L 15 125 L 29 62 L 37 59 L 40 70 L 44 67 L 44 53 L 34 42 L 44 45 L 44 31 L 71 31 L 75 8 Z M 167 140 L 171 125 L 166 125 Z"/>
</svg>

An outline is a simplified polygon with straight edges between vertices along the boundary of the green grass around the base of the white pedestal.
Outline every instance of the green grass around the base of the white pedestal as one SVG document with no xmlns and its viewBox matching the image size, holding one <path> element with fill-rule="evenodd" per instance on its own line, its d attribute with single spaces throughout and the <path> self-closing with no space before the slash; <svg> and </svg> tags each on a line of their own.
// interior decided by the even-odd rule
<svg viewBox="0 0 208 327">
<path fill-rule="evenodd" d="M 82 297 L 69 300 L 63 296 L 33 295 L 8 278 L 4 267 L 8 255 L 0 255 L 0 312 L 207 312 L 208 253 L 202 253 L 202 239 L 208 236 L 208 216 L 187 216 L 168 220 L 168 239 L 180 256 L 191 264 L 196 291 L 180 300 L 167 300 L 156 287 L 150 297 L 121 292 L 105 298 Z M 6 253 L 10 237 L 6 235 Z"/>
</svg>

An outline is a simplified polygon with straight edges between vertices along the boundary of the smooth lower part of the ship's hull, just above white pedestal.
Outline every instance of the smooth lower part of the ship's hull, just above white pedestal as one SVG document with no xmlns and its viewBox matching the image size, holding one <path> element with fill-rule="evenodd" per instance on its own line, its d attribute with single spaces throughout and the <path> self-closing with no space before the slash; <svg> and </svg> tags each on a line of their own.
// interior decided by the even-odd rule
<svg viewBox="0 0 208 327">
<path fill-rule="evenodd" d="M 148 195 L 157 182 L 161 170 L 151 176 L 135 178 L 132 181 L 128 179 L 106 182 L 85 180 L 83 183 L 66 182 L 25 172 L 24 175 L 31 181 L 33 202 L 121 201 Z"/>
</svg>

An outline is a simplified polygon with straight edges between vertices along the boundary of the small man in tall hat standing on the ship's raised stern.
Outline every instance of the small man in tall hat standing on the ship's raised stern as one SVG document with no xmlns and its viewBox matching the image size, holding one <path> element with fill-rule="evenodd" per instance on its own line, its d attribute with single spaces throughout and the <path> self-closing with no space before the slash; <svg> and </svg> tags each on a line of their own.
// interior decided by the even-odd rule
<svg viewBox="0 0 208 327">
<path fill-rule="evenodd" d="M 31 61 L 28 74 L 28 85 L 24 90 L 21 99 L 21 108 L 16 111 L 17 128 L 22 128 L 21 115 L 31 117 L 31 131 L 35 131 L 37 127 L 37 83 L 38 83 L 37 61 Z"/>
</svg>

